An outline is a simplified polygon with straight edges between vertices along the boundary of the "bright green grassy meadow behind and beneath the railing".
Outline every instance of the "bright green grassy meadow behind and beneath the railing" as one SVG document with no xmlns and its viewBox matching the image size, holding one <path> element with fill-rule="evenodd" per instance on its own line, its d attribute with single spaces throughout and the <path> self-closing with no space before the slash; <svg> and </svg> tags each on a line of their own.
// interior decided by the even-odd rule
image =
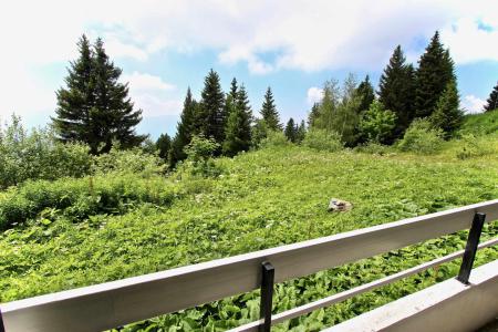
<svg viewBox="0 0 498 332">
<path fill-rule="evenodd" d="M 0 302 L 497 198 L 498 154 L 461 160 L 452 152 L 457 147 L 458 144 L 448 143 L 435 156 L 276 147 L 218 159 L 216 164 L 222 169 L 218 178 L 111 174 L 92 181 L 65 178 L 50 184 L 28 183 L 0 194 L 0 209 L 15 197 L 24 204 L 21 211 L 30 210 L 22 215 L 24 220 L 17 220 L 18 226 L 0 234 Z M 56 195 L 64 196 L 61 193 L 66 189 L 82 195 L 74 195 L 69 204 L 61 205 Z M 87 203 L 82 197 L 106 198 Z M 326 207 L 331 197 L 349 200 L 354 208 L 330 214 Z M 487 227 L 484 238 L 496 234 L 498 226 Z M 463 248 L 465 237 L 461 232 L 434 239 L 279 284 L 273 311 L 449 253 Z M 497 258 L 497 249 L 483 250 L 478 263 Z M 419 273 L 277 329 L 313 331 L 338 323 L 449 278 L 457 267 L 458 262 L 444 264 L 437 271 Z M 225 330 L 255 320 L 258 313 L 256 291 L 127 329 Z"/>
</svg>

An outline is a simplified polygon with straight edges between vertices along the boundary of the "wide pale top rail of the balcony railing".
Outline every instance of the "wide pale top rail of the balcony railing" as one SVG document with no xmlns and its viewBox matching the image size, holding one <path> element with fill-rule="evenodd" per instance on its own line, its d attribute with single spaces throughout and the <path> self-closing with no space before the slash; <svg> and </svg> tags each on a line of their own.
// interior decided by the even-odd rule
<svg viewBox="0 0 498 332">
<path fill-rule="evenodd" d="M 0 304 L 7 331 L 102 331 L 261 286 L 468 229 L 476 214 L 498 219 L 498 199 L 167 271 Z M 270 297 L 271 299 L 271 297 Z"/>
</svg>

